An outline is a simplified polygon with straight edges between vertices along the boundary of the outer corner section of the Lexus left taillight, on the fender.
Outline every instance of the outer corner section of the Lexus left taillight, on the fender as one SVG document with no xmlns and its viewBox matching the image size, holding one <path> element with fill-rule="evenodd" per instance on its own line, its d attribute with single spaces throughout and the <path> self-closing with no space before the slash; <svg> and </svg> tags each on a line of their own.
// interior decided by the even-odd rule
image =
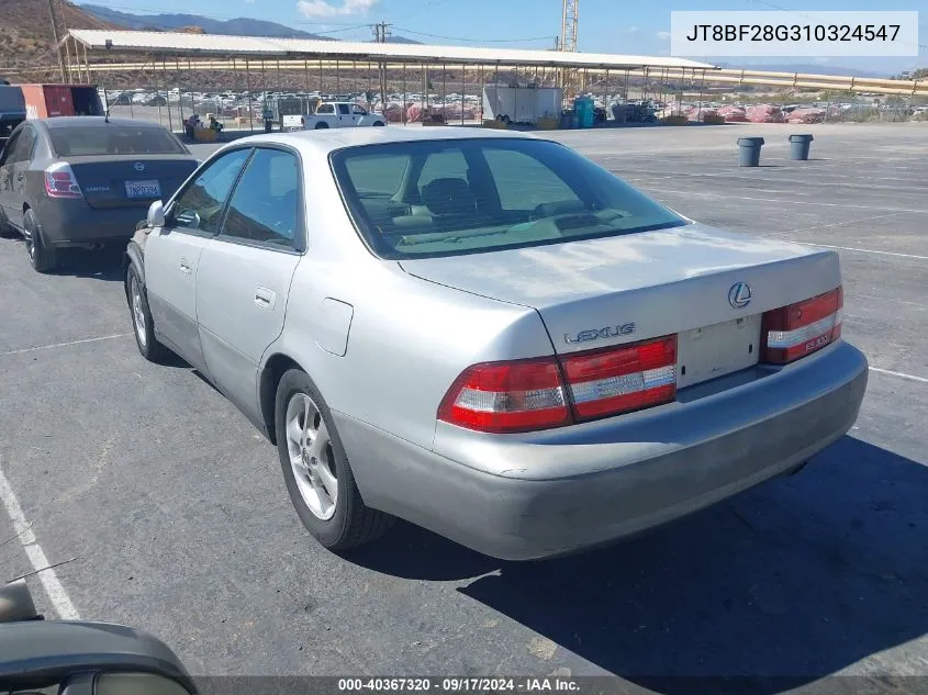
<svg viewBox="0 0 928 695">
<path fill-rule="evenodd" d="M 571 422 L 554 358 L 485 362 L 466 369 L 441 401 L 438 419 L 493 433 L 546 429 Z"/>
</svg>

